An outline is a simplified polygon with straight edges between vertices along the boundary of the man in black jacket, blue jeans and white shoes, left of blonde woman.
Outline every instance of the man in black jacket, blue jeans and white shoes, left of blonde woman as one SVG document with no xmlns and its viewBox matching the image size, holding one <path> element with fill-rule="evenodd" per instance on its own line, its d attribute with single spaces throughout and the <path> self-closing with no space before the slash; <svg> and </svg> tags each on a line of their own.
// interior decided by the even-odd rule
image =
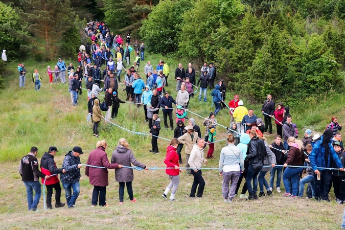
<svg viewBox="0 0 345 230">
<path fill-rule="evenodd" d="M 285 154 L 285 148 L 282 143 L 281 135 L 274 136 L 274 142 L 269 146 L 269 148 L 271 148 L 272 152 L 275 155 L 275 160 L 277 162 L 277 165 L 284 165 L 287 159 L 287 155 Z M 280 183 L 281 183 L 282 172 L 283 172 L 282 167 L 274 167 L 271 169 L 270 178 L 269 178 L 269 187 L 270 187 L 269 189 L 270 191 L 272 191 L 274 188 L 273 184 L 274 184 L 275 172 L 277 172 L 277 181 L 275 182 L 275 187 L 277 189 L 277 192 L 281 193 Z"/>
</svg>

